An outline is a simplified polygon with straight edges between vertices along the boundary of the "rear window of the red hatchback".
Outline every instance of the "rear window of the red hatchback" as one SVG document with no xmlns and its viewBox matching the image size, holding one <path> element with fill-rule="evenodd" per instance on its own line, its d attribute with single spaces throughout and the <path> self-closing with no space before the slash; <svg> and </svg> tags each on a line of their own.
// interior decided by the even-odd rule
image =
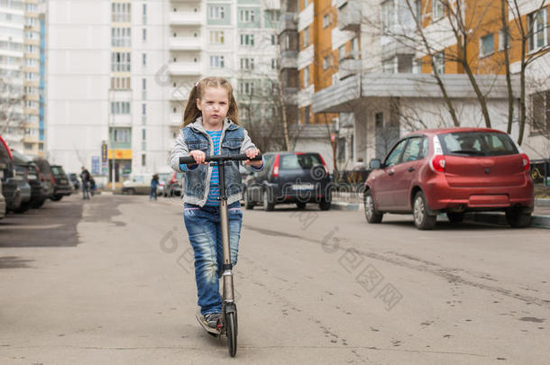
<svg viewBox="0 0 550 365">
<path fill-rule="evenodd" d="M 445 155 L 503 156 L 518 153 L 508 134 L 499 132 L 453 132 L 439 135 Z"/>
</svg>

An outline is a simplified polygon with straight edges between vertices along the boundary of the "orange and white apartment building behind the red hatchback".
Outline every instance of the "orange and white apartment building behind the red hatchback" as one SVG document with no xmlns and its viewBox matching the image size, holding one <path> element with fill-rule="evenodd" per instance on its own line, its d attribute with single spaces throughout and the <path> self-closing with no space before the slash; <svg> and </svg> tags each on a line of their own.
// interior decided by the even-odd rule
<svg viewBox="0 0 550 365">
<path fill-rule="evenodd" d="M 351 116 L 353 132 L 340 128 L 337 136 L 344 142 L 344 147 L 339 148 L 346 156 L 343 160 L 383 158 L 392 143 L 408 131 L 453 125 L 441 89 L 432 76 L 435 72 L 441 76 L 454 108 L 459 111 L 461 125 L 485 125 L 466 70 L 455 59 L 460 54 L 459 45 L 445 4 L 440 0 L 332 1 L 336 14 L 332 41 L 333 49 L 338 50 L 337 71 L 331 86 L 317 81 L 323 87 L 314 87 L 311 108 L 316 115 L 339 114 L 340 121 L 343 115 Z M 506 131 L 508 92 L 500 2 L 467 0 L 461 5 L 464 23 L 477 24 L 468 32 L 464 53 L 486 97 L 491 126 Z M 313 14 L 323 16 L 315 8 L 316 2 L 313 6 Z M 550 155 L 545 114 L 549 105 L 550 69 L 549 56 L 545 54 L 548 5 L 541 11 L 538 6 L 540 3 L 536 1 L 523 1 L 519 6 L 521 18 L 534 30 L 527 37 L 527 55 L 540 56 L 527 68 L 527 113 L 533 123 L 526 127 L 522 148 L 533 159 Z M 521 41 L 509 9 L 507 16 L 510 68 L 516 74 L 512 79 L 518 97 Z M 428 49 L 422 41 L 415 41 L 415 34 L 419 34 L 417 22 L 426 35 Z M 518 110 L 517 104 L 512 124 L 514 138 L 518 137 Z"/>
</svg>

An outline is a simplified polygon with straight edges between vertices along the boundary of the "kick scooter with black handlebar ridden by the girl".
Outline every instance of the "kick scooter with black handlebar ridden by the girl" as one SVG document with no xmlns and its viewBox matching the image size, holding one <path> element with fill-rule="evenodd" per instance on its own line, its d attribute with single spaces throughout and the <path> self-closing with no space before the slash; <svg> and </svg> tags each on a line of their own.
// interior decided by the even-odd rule
<svg viewBox="0 0 550 365">
<path fill-rule="evenodd" d="M 227 351 L 234 357 L 237 353 L 237 306 L 234 302 L 233 285 L 233 265 L 231 263 L 231 251 L 229 248 L 229 223 L 227 219 L 227 194 L 225 193 L 225 174 L 224 166 L 232 161 L 261 160 L 261 154 L 254 159 L 249 159 L 245 154 L 234 155 L 206 155 L 206 162 L 211 162 L 211 166 L 217 166 L 220 178 L 220 223 L 222 225 L 222 250 L 224 251 L 224 261 L 222 264 L 222 318 L 216 324 L 216 328 L 211 328 L 204 323 L 200 311 L 197 312 L 198 323 L 206 332 L 216 338 L 222 334 L 227 337 Z M 180 157 L 179 164 L 192 164 L 195 159 L 191 156 Z"/>
</svg>

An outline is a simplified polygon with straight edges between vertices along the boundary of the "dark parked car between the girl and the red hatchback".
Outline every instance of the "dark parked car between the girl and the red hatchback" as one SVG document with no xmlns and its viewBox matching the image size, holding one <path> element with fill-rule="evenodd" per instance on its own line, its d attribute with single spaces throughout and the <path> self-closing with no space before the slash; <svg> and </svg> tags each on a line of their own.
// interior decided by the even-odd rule
<svg viewBox="0 0 550 365">
<path fill-rule="evenodd" d="M 316 203 L 330 209 L 330 175 L 325 160 L 316 152 L 265 153 L 264 169 L 254 172 L 244 185 L 246 209 L 262 204 L 266 211 L 277 204 L 295 203 L 299 209 Z"/>
</svg>

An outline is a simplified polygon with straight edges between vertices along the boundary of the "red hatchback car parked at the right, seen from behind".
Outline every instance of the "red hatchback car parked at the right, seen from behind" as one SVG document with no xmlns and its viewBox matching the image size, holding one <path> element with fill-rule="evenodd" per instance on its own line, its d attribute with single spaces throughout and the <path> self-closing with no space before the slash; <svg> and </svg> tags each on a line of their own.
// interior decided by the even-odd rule
<svg viewBox="0 0 550 365">
<path fill-rule="evenodd" d="M 449 128 L 413 132 L 384 161 L 371 160 L 364 187 L 365 216 L 414 215 L 431 229 L 436 215 L 458 223 L 465 212 L 504 211 L 512 227 L 526 227 L 533 213 L 529 159 L 508 134 L 492 129 Z"/>
</svg>

